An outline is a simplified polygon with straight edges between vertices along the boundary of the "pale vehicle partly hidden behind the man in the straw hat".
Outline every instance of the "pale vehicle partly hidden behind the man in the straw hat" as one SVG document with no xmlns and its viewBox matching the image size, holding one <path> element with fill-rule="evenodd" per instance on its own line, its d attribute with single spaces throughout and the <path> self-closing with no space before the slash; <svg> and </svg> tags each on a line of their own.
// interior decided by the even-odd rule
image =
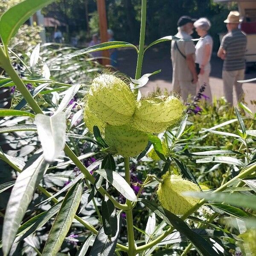
<svg viewBox="0 0 256 256">
<path fill-rule="evenodd" d="M 241 30 L 247 35 L 246 63 L 256 64 L 256 0 L 214 0 L 216 3 L 236 2 L 243 21 Z M 220 33 L 220 41 L 226 33 Z"/>
</svg>

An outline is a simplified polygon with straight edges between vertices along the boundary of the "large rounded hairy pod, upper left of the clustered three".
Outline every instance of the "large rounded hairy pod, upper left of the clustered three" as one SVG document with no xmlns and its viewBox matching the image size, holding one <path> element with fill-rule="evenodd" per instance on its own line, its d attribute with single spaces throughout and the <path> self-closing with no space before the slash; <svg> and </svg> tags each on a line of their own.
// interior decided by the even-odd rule
<svg viewBox="0 0 256 256">
<path fill-rule="evenodd" d="M 136 108 L 131 89 L 118 77 L 108 74 L 93 79 L 87 104 L 93 114 L 110 125 L 128 123 Z"/>
</svg>

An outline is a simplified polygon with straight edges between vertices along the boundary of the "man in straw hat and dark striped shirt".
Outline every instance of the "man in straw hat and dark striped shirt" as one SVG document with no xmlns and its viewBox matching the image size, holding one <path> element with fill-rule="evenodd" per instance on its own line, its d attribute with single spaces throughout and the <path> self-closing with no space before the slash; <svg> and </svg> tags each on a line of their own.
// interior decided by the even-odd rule
<svg viewBox="0 0 256 256">
<path fill-rule="evenodd" d="M 233 85 L 235 85 L 236 99 L 243 96 L 242 84 L 238 80 L 244 79 L 246 35 L 239 29 L 241 22 L 239 12 L 232 11 L 227 16 L 228 33 L 223 37 L 218 50 L 218 57 L 224 60 L 222 79 L 224 85 L 224 96 L 227 102 L 233 105 Z"/>
</svg>

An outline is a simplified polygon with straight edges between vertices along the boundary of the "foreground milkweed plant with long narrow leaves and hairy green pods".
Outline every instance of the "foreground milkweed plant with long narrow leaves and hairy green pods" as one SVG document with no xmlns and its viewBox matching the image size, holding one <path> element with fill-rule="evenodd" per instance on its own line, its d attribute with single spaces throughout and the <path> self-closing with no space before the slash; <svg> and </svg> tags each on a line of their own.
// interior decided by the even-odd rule
<svg viewBox="0 0 256 256">
<path fill-rule="evenodd" d="M 188 125 L 187 105 L 174 93 L 147 96 L 140 93 L 140 88 L 149 77 L 159 72 L 142 76 L 143 56 L 147 49 L 163 41 L 185 41 L 166 36 L 145 47 L 146 0 L 142 0 L 141 5 L 138 48 L 127 42 L 111 41 L 70 52 L 65 57 L 70 60 L 94 51 L 131 47 L 137 52 L 134 79 L 107 70 L 88 79 L 87 86 L 81 87 L 78 83 L 54 81 L 45 65 L 43 71 L 48 75 L 38 78 L 35 70 L 40 59 L 40 45 L 33 49 L 30 56 L 31 77 L 19 76 L 12 61 L 9 42 L 31 15 L 52 2 L 54 0 L 24 0 L 0 18 L 0 66 L 9 76 L 2 77 L 0 84 L 3 87 L 15 85 L 22 98 L 16 106 L 0 109 L 3 117 L 0 132 L 30 131 L 38 137 L 31 157 L 24 161 L 0 151 L 1 160 L 17 174 L 15 182 L 0 185 L 0 192 L 12 188 L 3 220 L 0 244 L 3 254 L 12 254 L 17 244 L 25 242 L 34 253 L 43 256 L 185 256 L 193 250 L 200 255 L 215 256 L 232 255 L 231 249 L 236 255 L 241 252 L 246 252 L 243 255 L 255 255 L 256 151 L 253 147 L 255 138 L 249 138 L 256 135 L 252 129 L 255 123 L 253 113 L 241 104 L 249 115 L 247 118 L 253 120 L 249 129 L 246 129 L 244 118 L 235 109 L 236 119 L 202 131 L 202 137 L 209 132 L 236 138 L 236 144 L 241 144 L 239 150 L 189 151 L 189 145 L 195 142 L 191 140 L 189 144 L 191 138 L 182 137 Z M 26 67 L 24 62 L 23 66 Z M 51 88 L 51 85 L 54 87 Z M 47 93 L 62 99 L 53 111 L 44 108 L 42 103 L 47 101 Z M 76 95 L 79 93 L 83 97 L 78 103 Z M 76 104 L 79 104 L 77 113 L 83 116 L 84 121 L 78 125 L 79 131 L 82 129 L 79 134 L 77 129 L 72 129 L 77 119 L 71 122 L 69 119 Z M 77 113 L 72 114 L 73 117 Z M 24 116 L 30 121 L 5 125 L 10 118 Z M 232 122 L 240 125 L 237 134 L 218 130 Z M 84 153 L 76 146 L 76 140 L 81 139 L 86 145 L 91 145 L 91 152 Z M 185 156 L 193 158 L 198 164 L 227 164 L 221 186 L 209 189 L 198 184 L 183 163 L 182 157 Z M 139 180 L 136 169 L 133 172 L 131 169 L 134 163 L 143 159 L 159 163 L 160 173 L 150 171 L 143 180 Z M 73 176 L 69 176 L 61 189 L 49 192 L 45 181 L 46 177 L 50 177 L 49 172 L 69 164 L 75 166 Z M 118 166 L 123 167 L 120 169 Z M 63 173 L 57 177 L 63 179 L 67 175 Z M 148 186 L 155 188 L 151 198 L 144 194 Z M 48 207 L 25 218 L 35 191 L 42 195 L 37 204 Z M 96 225 L 83 217 L 89 204 L 96 211 Z M 134 224 L 137 206 L 148 212 L 144 230 Z M 197 217 L 198 212 L 204 212 L 204 219 Z M 229 228 L 214 223 L 220 215 L 230 216 L 241 235 L 235 236 Z M 237 228 L 231 224 L 232 221 L 228 225 L 231 229 Z M 50 224 L 49 232 L 38 247 L 32 238 L 47 223 Z M 78 224 L 81 232 L 70 233 Z M 141 233 L 140 240 L 134 236 L 135 231 Z M 232 241 L 235 246 L 229 247 Z M 74 250 L 67 254 L 65 244 L 76 248 L 75 254 Z"/>
</svg>

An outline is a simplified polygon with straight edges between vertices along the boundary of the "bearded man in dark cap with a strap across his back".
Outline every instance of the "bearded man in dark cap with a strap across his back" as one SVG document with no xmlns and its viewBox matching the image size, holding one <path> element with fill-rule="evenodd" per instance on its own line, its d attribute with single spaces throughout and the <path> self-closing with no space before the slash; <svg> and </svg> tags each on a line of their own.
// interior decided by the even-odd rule
<svg viewBox="0 0 256 256">
<path fill-rule="evenodd" d="M 189 16 L 182 16 L 177 22 L 177 38 L 192 39 L 193 23 Z M 185 101 L 189 94 L 196 93 L 198 75 L 195 69 L 195 46 L 192 41 L 172 41 L 172 90 L 180 93 Z"/>
</svg>

